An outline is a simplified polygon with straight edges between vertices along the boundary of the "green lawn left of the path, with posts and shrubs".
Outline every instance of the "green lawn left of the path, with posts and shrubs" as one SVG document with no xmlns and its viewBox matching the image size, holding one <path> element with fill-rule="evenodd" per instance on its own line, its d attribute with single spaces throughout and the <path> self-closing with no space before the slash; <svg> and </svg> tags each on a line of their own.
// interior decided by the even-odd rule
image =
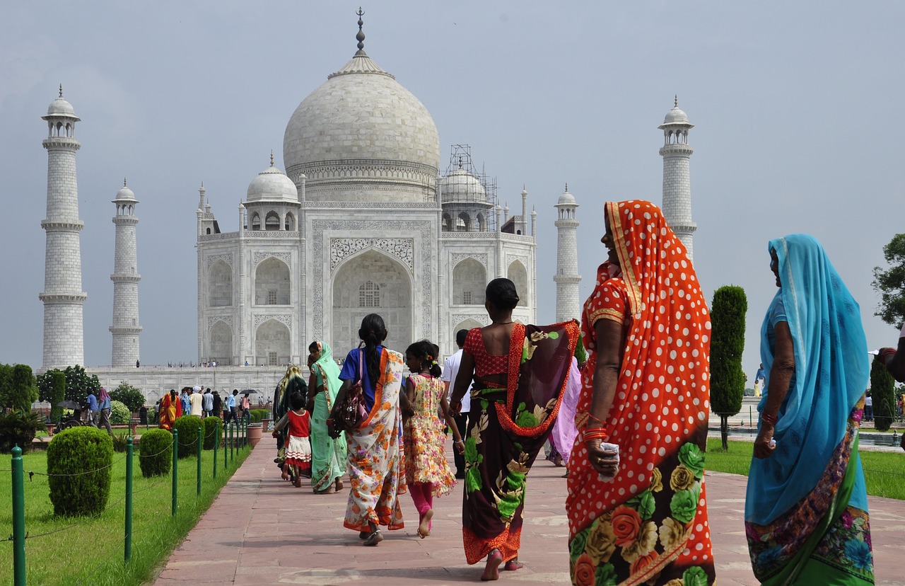
<svg viewBox="0 0 905 586">
<path fill-rule="evenodd" d="M 53 514 L 47 476 L 47 455 L 35 450 L 23 456 L 25 496 L 25 561 L 29 584 L 142 584 L 167 561 L 170 553 L 214 502 L 228 476 L 250 450 L 235 454 L 224 474 L 223 449 L 217 450 L 217 477 L 213 451 L 202 456 L 202 492 L 196 494 L 197 460 L 179 460 L 176 516 L 171 513 L 172 476 L 145 478 L 135 450 L 132 484 L 132 556 L 123 561 L 125 534 L 125 454 L 114 453 L 110 501 L 97 518 L 59 518 Z M 12 457 L 0 461 L 0 535 L 13 534 Z M 36 474 L 29 480 L 28 472 Z M 40 473 L 40 474 L 38 474 Z M 0 549 L 0 584 L 13 583 L 13 543 Z"/>
</svg>

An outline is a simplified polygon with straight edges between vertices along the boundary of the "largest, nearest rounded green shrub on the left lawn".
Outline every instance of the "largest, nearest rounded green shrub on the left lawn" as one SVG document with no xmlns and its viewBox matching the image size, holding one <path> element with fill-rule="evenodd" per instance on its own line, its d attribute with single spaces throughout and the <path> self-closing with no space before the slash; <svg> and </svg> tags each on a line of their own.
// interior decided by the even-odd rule
<svg viewBox="0 0 905 586">
<path fill-rule="evenodd" d="M 47 447 L 53 513 L 100 514 L 110 498 L 113 440 L 97 427 L 70 427 Z"/>
</svg>

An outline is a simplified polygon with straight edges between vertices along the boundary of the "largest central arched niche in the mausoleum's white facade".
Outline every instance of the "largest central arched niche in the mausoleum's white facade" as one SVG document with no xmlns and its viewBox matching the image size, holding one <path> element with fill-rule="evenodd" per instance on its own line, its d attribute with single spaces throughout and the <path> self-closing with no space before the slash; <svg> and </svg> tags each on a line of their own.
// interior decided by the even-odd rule
<svg viewBox="0 0 905 586">
<path fill-rule="evenodd" d="M 368 313 L 377 313 L 384 319 L 389 334 L 387 348 L 405 351 L 414 341 L 412 277 L 393 257 L 373 249 L 352 256 L 338 267 L 332 290 L 332 343 L 338 357 L 358 345 L 358 328 Z M 362 293 L 379 306 L 362 307 Z"/>
</svg>

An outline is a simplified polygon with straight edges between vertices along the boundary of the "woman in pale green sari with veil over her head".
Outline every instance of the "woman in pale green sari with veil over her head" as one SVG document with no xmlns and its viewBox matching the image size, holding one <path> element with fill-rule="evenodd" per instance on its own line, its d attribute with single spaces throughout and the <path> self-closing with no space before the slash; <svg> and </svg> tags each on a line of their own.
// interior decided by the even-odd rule
<svg viewBox="0 0 905 586">
<path fill-rule="evenodd" d="M 336 439 L 327 435 L 327 418 L 337 398 L 339 367 L 325 341 L 312 341 L 310 352 L 311 378 L 308 388 L 311 412 L 311 486 L 319 495 L 329 495 L 343 489 L 346 474 L 346 437 Z"/>
</svg>

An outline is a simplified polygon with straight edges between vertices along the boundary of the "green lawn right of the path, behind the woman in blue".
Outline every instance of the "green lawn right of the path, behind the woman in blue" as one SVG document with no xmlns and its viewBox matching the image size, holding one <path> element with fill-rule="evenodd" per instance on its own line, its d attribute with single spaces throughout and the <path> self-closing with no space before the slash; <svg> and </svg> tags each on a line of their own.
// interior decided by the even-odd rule
<svg viewBox="0 0 905 586">
<path fill-rule="evenodd" d="M 707 469 L 748 476 L 753 449 L 751 442 L 730 441 L 729 451 L 724 451 L 719 437 L 710 437 L 707 440 Z M 905 483 L 901 482 L 905 474 L 905 454 L 862 450 L 861 459 L 868 495 L 905 500 Z"/>
</svg>

